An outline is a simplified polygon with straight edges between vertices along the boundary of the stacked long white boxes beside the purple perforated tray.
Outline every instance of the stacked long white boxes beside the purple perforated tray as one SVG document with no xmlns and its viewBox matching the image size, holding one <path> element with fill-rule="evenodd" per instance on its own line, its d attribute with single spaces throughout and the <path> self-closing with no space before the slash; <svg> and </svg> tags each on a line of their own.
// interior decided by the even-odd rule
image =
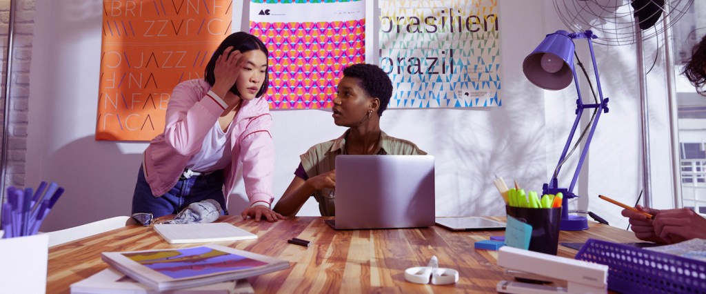
<svg viewBox="0 0 706 294">
<path fill-rule="evenodd" d="M 607 293 L 608 266 L 503 246 L 498 266 L 515 281 L 500 281 L 498 293 Z"/>
</svg>

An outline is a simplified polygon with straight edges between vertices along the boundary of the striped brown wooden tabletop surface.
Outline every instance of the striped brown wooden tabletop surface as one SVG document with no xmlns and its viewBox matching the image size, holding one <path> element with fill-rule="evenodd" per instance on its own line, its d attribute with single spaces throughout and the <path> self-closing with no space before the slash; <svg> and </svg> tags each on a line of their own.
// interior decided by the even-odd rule
<svg viewBox="0 0 706 294">
<path fill-rule="evenodd" d="M 475 241 L 503 231 L 452 232 L 431 228 L 336 231 L 320 217 L 296 217 L 276 223 L 224 216 L 220 220 L 258 235 L 257 240 L 219 242 L 289 261 L 289 269 L 249 278 L 256 293 L 495 293 L 496 283 L 507 279 L 496 265 L 498 252 L 476 250 Z M 498 218 L 504 220 L 504 218 Z M 311 247 L 291 245 L 298 237 Z M 585 242 L 588 238 L 611 242 L 638 242 L 632 232 L 590 222 L 589 230 L 562 231 L 559 242 Z M 101 252 L 192 247 L 169 245 L 151 227 L 125 228 L 49 248 L 47 293 L 69 293 L 71 283 L 107 268 Z M 559 246 L 558 255 L 573 258 L 576 250 Z M 425 266 L 431 256 L 439 266 L 457 269 L 458 283 L 418 285 L 405 281 L 404 271 Z"/>
</svg>

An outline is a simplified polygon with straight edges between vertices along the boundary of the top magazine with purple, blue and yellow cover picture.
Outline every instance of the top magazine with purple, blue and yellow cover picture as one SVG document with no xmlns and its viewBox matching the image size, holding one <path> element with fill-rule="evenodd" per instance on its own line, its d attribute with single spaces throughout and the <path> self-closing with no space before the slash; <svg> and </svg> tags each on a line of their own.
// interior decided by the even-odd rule
<svg viewBox="0 0 706 294">
<path fill-rule="evenodd" d="M 289 262 L 222 245 L 103 252 L 114 269 L 155 290 L 233 281 L 289 268 Z"/>
</svg>

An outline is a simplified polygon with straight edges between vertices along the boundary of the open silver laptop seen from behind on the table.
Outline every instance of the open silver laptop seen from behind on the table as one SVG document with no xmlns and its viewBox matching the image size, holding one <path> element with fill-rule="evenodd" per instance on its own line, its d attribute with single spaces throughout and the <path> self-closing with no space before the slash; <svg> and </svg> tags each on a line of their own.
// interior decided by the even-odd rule
<svg viewBox="0 0 706 294">
<path fill-rule="evenodd" d="M 336 156 L 336 230 L 434 225 L 432 155 Z"/>
</svg>

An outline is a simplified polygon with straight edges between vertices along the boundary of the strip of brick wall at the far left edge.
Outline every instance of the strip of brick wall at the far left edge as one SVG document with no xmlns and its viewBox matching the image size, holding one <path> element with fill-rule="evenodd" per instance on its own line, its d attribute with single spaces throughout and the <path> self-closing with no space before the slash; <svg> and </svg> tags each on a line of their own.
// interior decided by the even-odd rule
<svg viewBox="0 0 706 294">
<path fill-rule="evenodd" d="M 35 0 L 15 1 L 14 46 L 11 73 L 11 93 L 7 105 L 0 103 L 0 122 L 4 122 L 5 107 L 8 107 L 5 184 L 25 186 L 25 154 L 27 153 L 27 124 L 30 96 L 30 59 L 32 57 L 32 33 L 34 30 Z M 1 58 L 7 52 L 10 1 L 0 0 L 0 38 L 3 40 Z M 6 95 L 5 61 L 2 63 L 2 93 Z M 1 129 L 1 128 L 0 128 Z M 1 134 L 1 133 L 0 133 Z M 2 142 L 0 142 L 1 144 Z"/>
</svg>

